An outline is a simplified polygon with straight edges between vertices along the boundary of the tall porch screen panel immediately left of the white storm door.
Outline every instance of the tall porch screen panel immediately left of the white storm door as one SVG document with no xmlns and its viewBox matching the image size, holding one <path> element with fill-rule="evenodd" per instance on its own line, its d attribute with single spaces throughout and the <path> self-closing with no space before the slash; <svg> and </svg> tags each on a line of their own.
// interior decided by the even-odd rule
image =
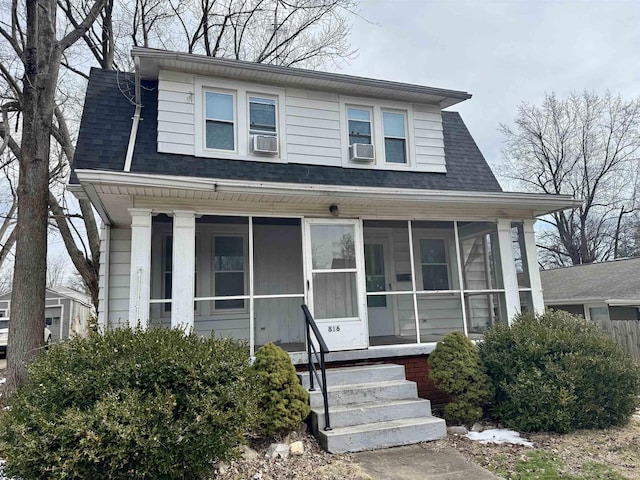
<svg viewBox="0 0 640 480">
<path fill-rule="evenodd" d="M 254 338 L 305 350 L 302 227 L 297 218 L 253 218 Z"/>
</svg>

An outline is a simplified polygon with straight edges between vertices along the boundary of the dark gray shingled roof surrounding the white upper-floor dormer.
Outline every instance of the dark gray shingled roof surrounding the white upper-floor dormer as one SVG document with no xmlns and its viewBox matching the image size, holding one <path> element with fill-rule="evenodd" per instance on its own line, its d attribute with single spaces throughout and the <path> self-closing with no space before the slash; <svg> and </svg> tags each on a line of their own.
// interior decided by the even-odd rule
<svg viewBox="0 0 640 480">
<path fill-rule="evenodd" d="M 143 120 L 131 164 L 131 171 L 135 173 L 321 185 L 502 191 L 456 112 L 442 112 L 446 174 L 204 159 L 157 152 L 157 82 L 143 81 L 142 87 Z M 91 70 L 74 169 L 123 170 L 134 112 L 130 100 L 133 89 L 132 74 Z M 71 183 L 77 182 L 72 172 Z"/>
</svg>

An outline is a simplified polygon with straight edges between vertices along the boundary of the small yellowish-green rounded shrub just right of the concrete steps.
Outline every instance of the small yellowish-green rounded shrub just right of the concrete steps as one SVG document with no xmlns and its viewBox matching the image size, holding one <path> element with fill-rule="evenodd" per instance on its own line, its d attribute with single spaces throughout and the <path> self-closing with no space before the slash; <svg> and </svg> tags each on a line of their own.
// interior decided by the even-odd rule
<svg viewBox="0 0 640 480">
<path fill-rule="evenodd" d="M 480 363 L 478 349 L 460 332 L 451 332 L 429 355 L 429 378 L 451 395 L 444 409 L 449 423 L 472 424 L 493 397 L 493 386 Z"/>
</svg>

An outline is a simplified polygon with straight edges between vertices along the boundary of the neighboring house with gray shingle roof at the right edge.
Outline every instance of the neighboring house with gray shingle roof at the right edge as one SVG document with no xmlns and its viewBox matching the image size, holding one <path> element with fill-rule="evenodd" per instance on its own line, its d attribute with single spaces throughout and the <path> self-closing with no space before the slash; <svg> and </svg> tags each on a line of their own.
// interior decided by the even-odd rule
<svg viewBox="0 0 640 480">
<path fill-rule="evenodd" d="M 542 270 L 547 307 L 587 320 L 640 320 L 640 257 Z"/>
</svg>

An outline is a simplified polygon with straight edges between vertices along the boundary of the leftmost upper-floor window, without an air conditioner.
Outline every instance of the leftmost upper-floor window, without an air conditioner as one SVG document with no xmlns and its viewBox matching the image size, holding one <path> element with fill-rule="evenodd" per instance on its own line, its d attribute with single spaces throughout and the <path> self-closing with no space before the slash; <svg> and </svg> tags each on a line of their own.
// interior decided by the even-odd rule
<svg viewBox="0 0 640 480">
<path fill-rule="evenodd" d="M 206 148 L 236 149 L 235 98 L 231 93 L 206 92 Z"/>
</svg>

